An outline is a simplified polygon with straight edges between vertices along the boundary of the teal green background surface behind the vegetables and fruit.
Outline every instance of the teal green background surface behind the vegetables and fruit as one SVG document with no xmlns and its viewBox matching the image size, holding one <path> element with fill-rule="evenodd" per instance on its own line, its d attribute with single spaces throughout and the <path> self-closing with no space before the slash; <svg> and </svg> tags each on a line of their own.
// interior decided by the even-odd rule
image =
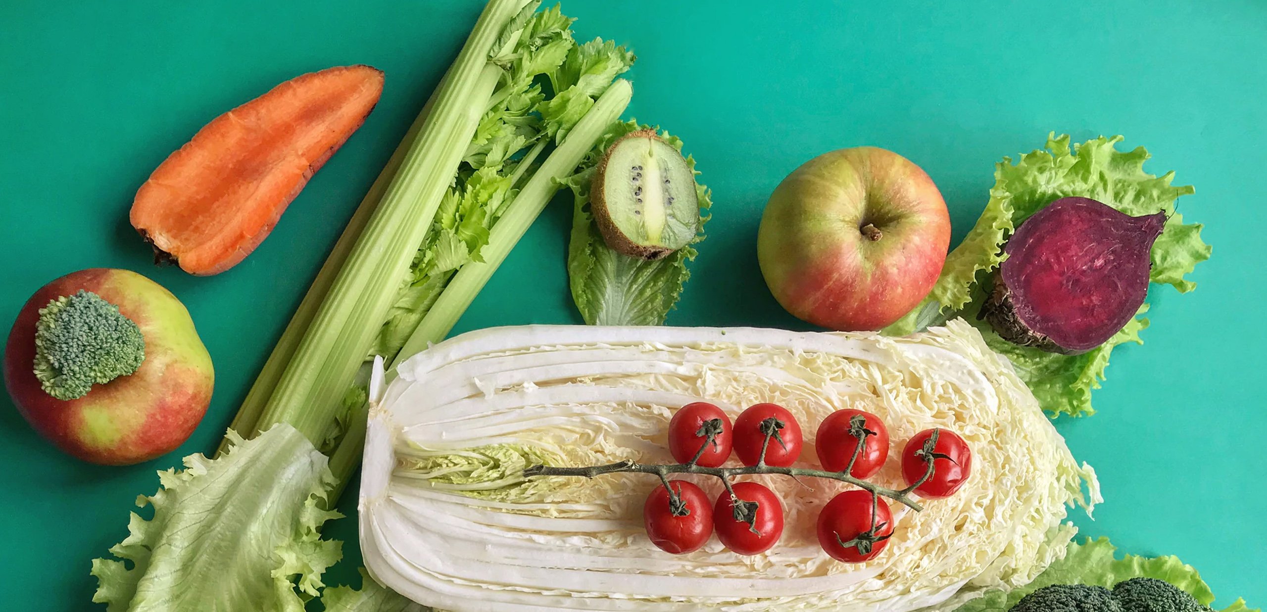
<svg viewBox="0 0 1267 612">
<path fill-rule="evenodd" d="M 1262 265 L 1267 4 L 568 0 L 576 35 L 627 43 L 630 117 L 687 142 L 713 220 L 669 323 L 797 327 L 756 267 L 760 210 L 810 157 L 875 144 L 921 165 L 971 227 L 1002 156 L 1125 134 L 1196 195 L 1214 258 L 1199 290 L 1153 291 L 1145 346 L 1114 352 L 1100 413 L 1062 419 L 1107 502 L 1074 517 L 1136 554 L 1177 554 L 1220 603 L 1267 606 Z M 1064 4 L 1064 3 L 1060 3 Z M 1093 5 L 1092 5 L 1093 4 Z M 142 271 L 193 313 L 217 367 L 210 411 L 177 451 L 100 468 L 52 449 L 0 400 L 0 604 L 98 609 L 89 560 L 125 535 L 155 470 L 210 451 L 327 251 L 457 52 L 481 3 L 231 0 L 4 3 L 0 8 L 0 324 L 46 281 Z M 243 264 L 213 277 L 155 269 L 127 222 L 138 185 L 217 114 L 302 72 L 370 63 L 379 108 Z M 559 198 L 456 332 L 579 323 Z M 355 490 L 355 489 L 352 489 Z M 352 495 L 342 504 L 355 511 Z M 331 531 L 355 540 L 352 521 Z M 355 545 L 347 558 L 356 563 Z M 332 582 L 355 575 L 345 564 Z M 355 580 L 353 580 L 355 582 Z"/>
</svg>

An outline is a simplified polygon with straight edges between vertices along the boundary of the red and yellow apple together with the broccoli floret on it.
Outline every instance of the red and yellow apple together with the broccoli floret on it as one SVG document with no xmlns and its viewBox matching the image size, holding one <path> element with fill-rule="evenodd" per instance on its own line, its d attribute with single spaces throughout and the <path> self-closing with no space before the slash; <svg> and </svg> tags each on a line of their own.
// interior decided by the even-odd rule
<svg viewBox="0 0 1267 612">
<path fill-rule="evenodd" d="M 180 446 L 207 412 L 214 383 L 184 304 L 157 283 L 113 269 L 80 270 L 35 291 L 9 332 L 4 378 L 39 433 L 106 465 Z"/>
</svg>

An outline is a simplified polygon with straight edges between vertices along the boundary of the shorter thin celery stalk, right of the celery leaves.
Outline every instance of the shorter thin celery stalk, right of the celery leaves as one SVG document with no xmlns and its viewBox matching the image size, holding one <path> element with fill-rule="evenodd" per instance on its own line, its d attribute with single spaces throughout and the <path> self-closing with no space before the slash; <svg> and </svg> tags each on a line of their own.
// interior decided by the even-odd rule
<svg viewBox="0 0 1267 612">
<path fill-rule="evenodd" d="M 409 336 L 404 348 L 393 362 L 393 367 L 404 357 L 427 348 L 431 342 L 440 342 L 449 335 L 449 331 L 457 323 L 457 318 L 475 299 L 475 294 L 484 288 L 488 279 L 497 271 L 497 266 L 509 255 L 514 243 L 523 237 L 528 226 L 541 214 L 550 198 L 559 190 L 557 181 L 576 170 L 594 143 L 625 112 L 632 94 L 634 89 L 623 79 L 617 79 L 603 91 L 594 106 L 568 133 L 563 143 L 546 157 L 546 161 L 528 179 L 514 200 L 507 205 L 506 212 L 502 213 L 489 234 L 489 242 L 483 251 L 484 261 L 473 261 L 457 270 L 457 274 L 445 286 L 445 291 L 427 310 L 418 328 Z"/>
</svg>

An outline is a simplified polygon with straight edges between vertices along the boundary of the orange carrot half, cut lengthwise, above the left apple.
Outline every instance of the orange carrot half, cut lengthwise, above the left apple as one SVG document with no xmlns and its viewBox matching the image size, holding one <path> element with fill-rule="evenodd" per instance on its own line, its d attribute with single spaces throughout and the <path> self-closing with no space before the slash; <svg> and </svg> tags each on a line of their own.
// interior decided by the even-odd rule
<svg viewBox="0 0 1267 612">
<path fill-rule="evenodd" d="M 156 261 L 196 275 L 233 267 L 269 236 L 381 94 L 381 71 L 337 66 L 212 119 L 141 185 L 132 227 L 153 245 Z"/>
</svg>

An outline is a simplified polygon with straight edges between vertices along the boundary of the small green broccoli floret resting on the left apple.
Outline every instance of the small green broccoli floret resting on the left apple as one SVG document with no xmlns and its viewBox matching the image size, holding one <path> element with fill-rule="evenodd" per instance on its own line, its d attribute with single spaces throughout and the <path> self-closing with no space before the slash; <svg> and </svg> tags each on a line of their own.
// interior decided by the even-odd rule
<svg viewBox="0 0 1267 612">
<path fill-rule="evenodd" d="M 94 384 L 137 371 L 144 359 L 137 323 L 92 291 L 80 289 L 39 309 L 35 378 L 57 399 L 82 398 Z"/>
</svg>

